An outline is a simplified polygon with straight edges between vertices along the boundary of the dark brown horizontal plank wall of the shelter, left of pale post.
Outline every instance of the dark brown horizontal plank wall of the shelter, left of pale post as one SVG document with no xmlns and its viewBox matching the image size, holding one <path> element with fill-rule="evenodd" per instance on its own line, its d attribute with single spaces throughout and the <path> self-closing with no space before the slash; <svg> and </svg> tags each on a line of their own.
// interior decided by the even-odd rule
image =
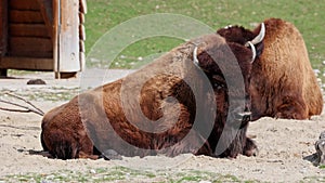
<svg viewBox="0 0 325 183">
<path fill-rule="evenodd" d="M 9 56 L 53 57 L 51 35 L 38 0 L 9 1 Z"/>
</svg>

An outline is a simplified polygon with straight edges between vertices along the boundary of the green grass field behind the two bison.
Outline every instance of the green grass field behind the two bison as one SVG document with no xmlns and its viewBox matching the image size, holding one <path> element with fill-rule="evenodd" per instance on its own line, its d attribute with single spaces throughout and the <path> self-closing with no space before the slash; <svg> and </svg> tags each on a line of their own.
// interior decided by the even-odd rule
<svg viewBox="0 0 325 183">
<path fill-rule="evenodd" d="M 182 14 L 218 29 L 229 24 L 252 28 L 268 17 L 281 17 L 294 23 L 303 35 L 314 68 L 325 61 L 325 3 L 322 0 L 91 0 L 86 16 L 89 51 L 98 39 L 113 27 L 140 15 L 152 13 Z M 110 67 L 133 68 L 139 57 L 162 53 L 182 41 L 159 37 L 128 47 Z M 145 63 L 145 62 L 144 62 Z M 101 63 L 87 63 L 101 67 Z M 323 69 L 322 69 L 323 70 Z"/>
</svg>

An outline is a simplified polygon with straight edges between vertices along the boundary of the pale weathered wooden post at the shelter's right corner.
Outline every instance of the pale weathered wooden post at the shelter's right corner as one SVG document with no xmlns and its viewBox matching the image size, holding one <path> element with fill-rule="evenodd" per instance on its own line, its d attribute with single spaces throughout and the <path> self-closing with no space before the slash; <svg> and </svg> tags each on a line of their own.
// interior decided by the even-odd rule
<svg viewBox="0 0 325 183">
<path fill-rule="evenodd" d="M 53 0 L 53 56 L 57 79 L 79 71 L 79 0 Z"/>
</svg>

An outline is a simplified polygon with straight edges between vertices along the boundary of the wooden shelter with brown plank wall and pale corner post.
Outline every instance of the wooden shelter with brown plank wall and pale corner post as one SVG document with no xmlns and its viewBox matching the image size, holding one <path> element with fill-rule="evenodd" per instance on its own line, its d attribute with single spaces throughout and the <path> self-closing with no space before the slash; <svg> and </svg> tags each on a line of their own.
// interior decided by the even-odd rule
<svg viewBox="0 0 325 183">
<path fill-rule="evenodd" d="M 55 71 L 84 68 L 86 0 L 0 0 L 0 75 L 8 69 Z"/>
</svg>

